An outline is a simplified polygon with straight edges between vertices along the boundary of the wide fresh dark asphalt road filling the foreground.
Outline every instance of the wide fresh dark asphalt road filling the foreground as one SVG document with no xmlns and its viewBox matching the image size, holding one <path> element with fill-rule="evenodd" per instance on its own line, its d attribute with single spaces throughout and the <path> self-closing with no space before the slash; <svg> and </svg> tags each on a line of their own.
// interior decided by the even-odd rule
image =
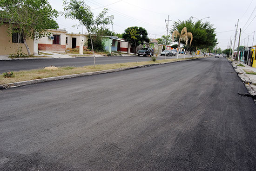
<svg viewBox="0 0 256 171">
<path fill-rule="evenodd" d="M 253 171 L 256 105 L 221 58 L 0 91 L 1 171 Z"/>
</svg>

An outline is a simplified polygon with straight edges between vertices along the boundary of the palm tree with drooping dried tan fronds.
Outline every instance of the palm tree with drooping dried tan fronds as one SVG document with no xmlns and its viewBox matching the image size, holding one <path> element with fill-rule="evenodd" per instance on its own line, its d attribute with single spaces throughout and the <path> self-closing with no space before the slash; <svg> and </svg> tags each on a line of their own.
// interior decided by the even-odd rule
<svg viewBox="0 0 256 171">
<path fill-rule="evenodd" d="M 178 59 L 178 55 L 179 55 L 179 49 L 180 49 L 180 43 L 181 41 L 184 41 L 185 44 L 188 44 L 189 38 L 190 38 L 190 43 L 189 45 L 191 45 L 191 42 L 193 40 L 193 34 L 191 32 L 187 32 L 187 27 L 184 27 L 181 31 L 181 33 L 179 33 L 177 30 L 175 30 L 172 33 L 172 39 L 174 41 L 174 37 L 175 38 L 179 38 L 179 44 L 178 44 L 178 53 L 177 53 L 177 59 Z"/>
</svg>

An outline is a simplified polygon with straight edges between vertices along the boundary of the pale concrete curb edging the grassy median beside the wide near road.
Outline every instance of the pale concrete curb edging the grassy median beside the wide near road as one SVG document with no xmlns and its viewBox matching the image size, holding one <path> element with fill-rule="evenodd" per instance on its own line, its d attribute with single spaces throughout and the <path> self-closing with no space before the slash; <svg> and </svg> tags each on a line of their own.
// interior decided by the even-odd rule
<svg viewBox="0 0 256 171">
<path fill-rule="evenodd" d="M 199 58 L 195 58 L 195 59 L 199 59 Z M 93 76 L 93 75 L 98 75 L 98 74 L 119 72 L 119 71 L 123 71 L 123 70 L 131 70 L 131 69 L 135 69 L 135 68 L 144 68 L 144 67 L 155 66 L 155 65 L 163 65 L 163 64 L 168 64 L 168 63 L 190 61 L 190 60 L 195 60 L 195 59 L 171 61 L 171 62 L 166 62 L 166 63 L 152 63 L 152 64 L 148 64 L 148 65 L 139 65 L 139 66 L 127 67 L 127 68 L 118 68 L 118 69 L 112 69 L 112 70 L 101 70 L 101 71 L 86 72 L 86 73 L 81 73 L 81 74 L 72 74 L 72 75 L 66 75 L 66 76 L 54 76 L 54 77 L 48 77 L 48 78 L 40 78 L 40 79 L 36 79 L 36 80 L 13 82 L 13 83 L 0 85 L 0 89 L 9 89 L 9 88 L 20 87 L 20 86 L 24 86 L 24 85 L 41 83 L 41 82 L 56 81 L 56 80 L 62 80 L 62 79 L 67 79 L 67 78 L 75 78 L 75 77 L 81 77 L 81 76 Z"/>
</svg>

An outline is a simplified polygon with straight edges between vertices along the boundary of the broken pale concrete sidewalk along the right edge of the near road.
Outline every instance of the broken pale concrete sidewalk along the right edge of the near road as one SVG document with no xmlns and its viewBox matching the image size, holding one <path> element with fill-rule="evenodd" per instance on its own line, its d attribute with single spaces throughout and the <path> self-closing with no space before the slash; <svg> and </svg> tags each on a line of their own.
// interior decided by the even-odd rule
<svg viewBox="0 0 256 171">
<path fill-rule="evenodd" d="M 246 65 L 242 63 L 243 66 L 237 66 L 240 64 L 238 61 L 232 62 L 232 66 L 234 67 L 235 71 L 237 72 L 238 76 L 244 82 L 245 87 L 248 89 L 251 95 L 256 95 L 256 75 L 254 74 L 246 74 L 247 72 L 256 72 L 256 68 Z"/>
</svg>

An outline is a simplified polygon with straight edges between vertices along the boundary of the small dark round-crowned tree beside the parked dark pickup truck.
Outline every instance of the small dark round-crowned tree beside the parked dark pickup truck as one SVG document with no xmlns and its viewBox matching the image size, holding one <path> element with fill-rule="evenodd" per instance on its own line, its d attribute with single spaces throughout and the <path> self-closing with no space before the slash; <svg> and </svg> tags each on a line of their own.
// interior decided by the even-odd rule
<svg viewBox="0 0 256 171">
<path fill-rule="evenodd" d="M 137 26 L 125 29 L 123 39 L 129 42 L 128 53 L 130 53 L 131 46 L 136 47 L 136 45 L 144 44 L 144 42 L 149 43 L 147 30 Z"/>
</svg>

